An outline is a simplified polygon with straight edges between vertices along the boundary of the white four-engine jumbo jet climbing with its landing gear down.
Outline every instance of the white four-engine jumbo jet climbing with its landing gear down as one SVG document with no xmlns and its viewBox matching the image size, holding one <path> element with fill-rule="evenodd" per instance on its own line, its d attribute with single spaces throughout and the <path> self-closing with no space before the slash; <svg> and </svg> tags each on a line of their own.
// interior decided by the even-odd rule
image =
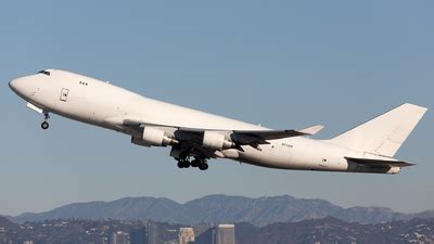
<svg viewBox="0 0 434 244">
<path fill-rule="evenodd" d="M 60 69 L 13 79 L 10 88 L 41 115 L 50 114 L 131 137 L 141 146 L 170 146 L 179 168 L 208 169 L 208 159 L 314 171 L 398 174 L 413 164 L 394 155 L 427 111 L 405 103 L 329 140 L 323 126 L 273 130 L 144 98 L 112 84 Z"/>
</svg>

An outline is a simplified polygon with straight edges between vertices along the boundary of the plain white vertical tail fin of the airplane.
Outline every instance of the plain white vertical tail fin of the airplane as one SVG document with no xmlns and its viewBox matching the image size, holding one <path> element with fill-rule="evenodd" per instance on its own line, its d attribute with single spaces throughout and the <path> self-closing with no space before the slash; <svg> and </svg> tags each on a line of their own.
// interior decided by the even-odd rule
<svg viewBox="0 0 434 244">
<path fill-rule="evenodd" d="M 426 112 L 426 107 L 403 104 L 330 142 L 353 150 L 393 157 Z"/>
</svg>

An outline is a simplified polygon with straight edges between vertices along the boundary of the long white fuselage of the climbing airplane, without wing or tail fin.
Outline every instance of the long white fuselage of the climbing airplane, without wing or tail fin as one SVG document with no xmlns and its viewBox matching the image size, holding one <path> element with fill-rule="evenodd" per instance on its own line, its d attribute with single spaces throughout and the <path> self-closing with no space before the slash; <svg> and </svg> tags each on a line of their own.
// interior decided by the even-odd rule
<svg viewBox="0 0 434 244">
<path fill-rule="evenodd" d="M 69 72 L 50 69 L 11 81 L 11 88 L 24 100 L 61 116 L 140 137 L 122 126 L 124 119 L 154 125 L 209 130 L 265 130 L 256 125 L 152 100 L 123 88 Z M 301 170 L 397 172 L 360 167 L 344 156 L 363 157 L 362 152 L 335 145 L 329 141 L 294 137 L 270 140 L 260 150 L 243 145 L 243 150 L 222 151 L 226 158 L 252 165 Z M 378 156 L 381 158 L 381 156 Z"/>
</svg>

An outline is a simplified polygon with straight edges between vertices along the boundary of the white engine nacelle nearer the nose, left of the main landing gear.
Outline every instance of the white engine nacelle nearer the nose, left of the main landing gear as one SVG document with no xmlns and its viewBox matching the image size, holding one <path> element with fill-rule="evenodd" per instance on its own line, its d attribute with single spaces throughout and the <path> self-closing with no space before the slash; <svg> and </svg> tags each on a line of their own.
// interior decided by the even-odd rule
<svg viewBox="0 0 434 244">
<path fill-rule="evenodd" d="M 141 138 L 131 138 L 131 143 L 143 146 L 166 146 L 176 144 L 177 141 L 165 136 L 163 130 L 154 127 L 144 127 Z"/>
</svg>

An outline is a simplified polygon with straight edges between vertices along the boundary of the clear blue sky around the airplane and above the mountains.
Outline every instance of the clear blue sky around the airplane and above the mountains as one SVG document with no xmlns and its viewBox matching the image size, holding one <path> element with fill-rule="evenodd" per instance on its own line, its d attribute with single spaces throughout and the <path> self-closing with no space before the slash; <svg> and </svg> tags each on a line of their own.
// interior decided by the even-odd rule
<svg viewBox="0 0 434 244">
<path fill-rule="evenodd" d="M 433 115 L 397 176 L 210 162 L 179 170 L 168 149 L 25 107 L 12 78 L 43 68 L 277 129 L 333 137 L 404 102 L 434 107 L 432 1 L 8 1 L 0 4 L 0 214 L 124 196 L 291 194 L 341 206 L 434 209 Z"/>
</svg>

